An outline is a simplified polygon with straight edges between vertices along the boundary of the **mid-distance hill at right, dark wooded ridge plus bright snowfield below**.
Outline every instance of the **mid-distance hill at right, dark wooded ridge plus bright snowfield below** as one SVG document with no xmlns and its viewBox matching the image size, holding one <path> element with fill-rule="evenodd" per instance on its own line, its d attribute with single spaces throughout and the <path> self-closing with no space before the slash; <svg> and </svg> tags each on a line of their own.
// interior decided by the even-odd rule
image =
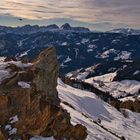
<svg viewBox="0 0 140 140">
<path fill-rule="evenodd" d="M 106 69 L 106 65 L 97 64 L 86 69 L 78 69 L 65 76 L 72 83 L 88 84 L 87 86 L 93 86 L 93 88 L 103 91 L 105 94 L 110 93 L 120 101 L 135 101 L 140 94 L 138 63 L 132 65 L 131 63 L 121 63 L 120 68 L 110 67 L 110 69 Z M 105 74 L 102 74 L 102 72 Z M 75 87 L 74 84 L 73 86 Z M 80 87 L 82 88 L 82 84 Z M 90 91 L 89 88 L 86 88 L 86 90 Z"/>
</svg>

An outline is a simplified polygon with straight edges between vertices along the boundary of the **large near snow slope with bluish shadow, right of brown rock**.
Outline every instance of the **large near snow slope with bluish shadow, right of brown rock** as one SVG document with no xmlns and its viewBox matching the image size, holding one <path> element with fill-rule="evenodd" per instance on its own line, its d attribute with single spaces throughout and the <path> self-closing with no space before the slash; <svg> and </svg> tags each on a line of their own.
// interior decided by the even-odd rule
<svg viewBox="0 0 140 140">
<path fill-rule="evenodd" d="M 73 124 L 81 123 L 88 129 L 88 140 L 117 140 L 120 139 L 102 127 L 97 125 L 98 119 L 101 125 L 128 140 L 140 138 L 140 114 L 126 110 L 128 118 L 125 118 L 114 107 L 103 102 L 93 93 L 72 88 L 58 80 L 58 92 L 61 105 L 68 110 Z"/>
</svg>

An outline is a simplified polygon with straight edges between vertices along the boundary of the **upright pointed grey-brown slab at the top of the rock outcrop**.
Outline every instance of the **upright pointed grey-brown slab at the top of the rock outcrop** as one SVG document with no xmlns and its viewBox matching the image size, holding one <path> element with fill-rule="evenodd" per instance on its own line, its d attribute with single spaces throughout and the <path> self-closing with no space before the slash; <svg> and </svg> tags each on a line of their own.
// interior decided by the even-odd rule
<svg viewBox="0 0 140 140">
<path fill-rule="evenodd" d="M 50 97 L 55 103 L 58 103 L 56 86 L 59 67 L 54 48 L 48 48 L 40 53 L 35 61 L 34 70 L 33 82 L 36 84 L 37 89 L 44 93 L 45 98 Z"/>
</svg>

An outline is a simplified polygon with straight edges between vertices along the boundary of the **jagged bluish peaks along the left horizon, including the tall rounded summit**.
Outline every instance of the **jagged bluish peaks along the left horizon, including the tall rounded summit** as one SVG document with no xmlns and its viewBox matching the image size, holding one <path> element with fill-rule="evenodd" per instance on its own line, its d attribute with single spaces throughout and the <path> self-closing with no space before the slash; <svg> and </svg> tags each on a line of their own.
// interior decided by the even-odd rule
<svg viewBox="0 0 140 140">
<path fill-rule="evenodd" d="M 72 31 L 72 32 L 89 32 L 90 30 L 85 27 L 72 27 L 70 24 L 65 23 L 61 27 L 56 24 L 51 24 L 48 26 L 38 26 L 38 25 L 25 25 L 19 27 L 6 27 L 0 26 L 0 34 L 14 33 L 14 34 L 33 34 L 38 32 L 46 31 Z"/>
</svg>

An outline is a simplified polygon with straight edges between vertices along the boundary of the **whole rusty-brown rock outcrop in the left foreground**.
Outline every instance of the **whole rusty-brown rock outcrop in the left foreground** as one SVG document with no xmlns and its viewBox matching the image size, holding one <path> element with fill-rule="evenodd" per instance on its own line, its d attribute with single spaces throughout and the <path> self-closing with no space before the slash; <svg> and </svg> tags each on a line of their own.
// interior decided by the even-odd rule
<svg viewBox="0 0 140 140">
<path fill-rule="evenodd" d="M 60 106 L 54 48 L 43 51 L 32 65 L 9 64 L 7 69 L 12 76 L 0 84 L 0 140 L 28 140 L 36 135 L 86 139 L 86 128 L 72 126 L 70 115 Z"/>
</svg>

